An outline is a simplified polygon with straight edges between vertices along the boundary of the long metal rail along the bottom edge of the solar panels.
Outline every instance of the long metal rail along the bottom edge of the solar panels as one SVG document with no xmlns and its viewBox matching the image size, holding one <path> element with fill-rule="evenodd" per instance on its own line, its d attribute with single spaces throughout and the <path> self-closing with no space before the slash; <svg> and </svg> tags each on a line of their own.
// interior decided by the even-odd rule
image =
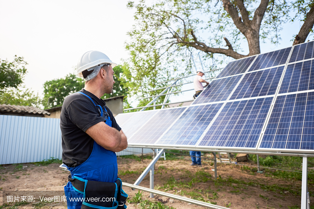
<svg viewBox="0 0 314 209">
<path fill-rule="evenodd" d="M 176 146 L 159 146 L 159 145 L 128 145 L 128 147 L 152 148 L 152 149 L 167 149 L 167 150 L 195 150 L 205 152 L 231 152 L 244 153 L 254 155 L 280 155 L 280 156 L 295 156 L 295 157 L 314 157 L 314 153 L 292 153 L 292 152 L 272 152 L 272 151 L 258 151 L 258 150 L 218 150 L 216 148 L 207 147 L 176 147 Z"/>
</svg>

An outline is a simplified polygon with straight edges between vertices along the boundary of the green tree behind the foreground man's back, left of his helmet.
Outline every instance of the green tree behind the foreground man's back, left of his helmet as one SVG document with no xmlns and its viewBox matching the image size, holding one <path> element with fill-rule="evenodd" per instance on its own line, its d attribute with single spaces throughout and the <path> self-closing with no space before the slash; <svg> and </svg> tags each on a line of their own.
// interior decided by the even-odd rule
<svg viewBox="0 0 314 209">
<path fill-rule="evenodd" d="M 43 105 L 45 109 L 62 106 L 64 98 L 84 88 L 84 79 L 68 74 L 64 79 L 46 81 L 44 86 Z"/>
</svg>

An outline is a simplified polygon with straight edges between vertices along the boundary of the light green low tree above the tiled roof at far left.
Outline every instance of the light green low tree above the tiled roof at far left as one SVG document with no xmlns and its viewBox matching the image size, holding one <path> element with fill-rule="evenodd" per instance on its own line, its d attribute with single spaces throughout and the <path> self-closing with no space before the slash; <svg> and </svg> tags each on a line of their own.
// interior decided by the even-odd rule
<svg viewBox="0 0 314 209">
<path fill-rule="evenodd" d="M 41 108 L 41 99 L 31 89 L 24 86 L 19 88 L 10 88 L 0 94 L 0 104 L 23 105 Z"/>
</svg>

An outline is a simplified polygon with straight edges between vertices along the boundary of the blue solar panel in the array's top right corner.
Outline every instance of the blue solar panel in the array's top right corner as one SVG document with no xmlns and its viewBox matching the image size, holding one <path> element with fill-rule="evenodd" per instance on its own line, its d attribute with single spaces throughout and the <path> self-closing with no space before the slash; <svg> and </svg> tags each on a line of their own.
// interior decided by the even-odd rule
<svg viewBox="0 0 314 209">
<path fill-rule="evenodd" d="M 313 41 L 295 45 L 293 48 L 290 62 L 313 58 Z"/>
</svg>

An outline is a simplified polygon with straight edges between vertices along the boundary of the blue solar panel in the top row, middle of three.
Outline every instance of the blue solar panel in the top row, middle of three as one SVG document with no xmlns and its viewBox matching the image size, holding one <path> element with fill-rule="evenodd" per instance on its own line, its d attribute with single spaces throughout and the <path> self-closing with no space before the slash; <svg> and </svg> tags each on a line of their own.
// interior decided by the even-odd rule
<svg viewBox="0 0 314 209">
<path fill-rule="evenodd" d="M 253 70 L 269 68 L 280 64 L 285 64 L 291 47 L 280 49 L 274 52 L 269 52 L 266 54 L 259 54 L 255 62 L 252 64 L 249 72 Z"/>
</svg>

